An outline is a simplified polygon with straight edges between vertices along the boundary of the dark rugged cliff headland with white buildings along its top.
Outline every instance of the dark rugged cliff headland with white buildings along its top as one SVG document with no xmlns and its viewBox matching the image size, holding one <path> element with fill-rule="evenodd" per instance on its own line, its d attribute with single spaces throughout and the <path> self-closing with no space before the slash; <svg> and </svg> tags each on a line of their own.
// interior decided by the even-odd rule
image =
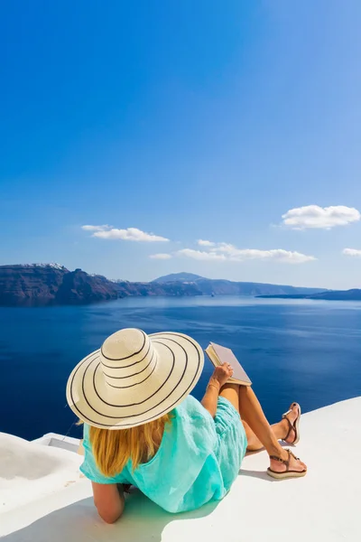
<svg viewBox="0 0 361 542">
<path fill-rule="evenodd" d="M 129 295 L 201 295 L 197 285 L 111 281 L 58 264 L 0 266 L 0 306 L 90 304 Z"/>
</svg>

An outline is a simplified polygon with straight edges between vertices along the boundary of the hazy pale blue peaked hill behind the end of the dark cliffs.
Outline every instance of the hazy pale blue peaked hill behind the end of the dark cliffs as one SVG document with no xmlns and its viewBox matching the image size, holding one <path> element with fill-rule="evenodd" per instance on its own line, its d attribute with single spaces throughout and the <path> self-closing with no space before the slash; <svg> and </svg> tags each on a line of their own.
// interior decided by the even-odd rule
<svg viewBox="0 0 361 542">
<path fill-rule="evenodd" d="M 315 294 L 325 288 L 304 288 L 288 285 L 270 285 L 264 283 L 233 282 L 225 279 L 205 278 L 192 273 L 175 273 L 156 278 L 153 283 L 170 284 L 172 282 L 194 283 L 203 295 L 276 295 L 276 294 Z"/>
</svg>

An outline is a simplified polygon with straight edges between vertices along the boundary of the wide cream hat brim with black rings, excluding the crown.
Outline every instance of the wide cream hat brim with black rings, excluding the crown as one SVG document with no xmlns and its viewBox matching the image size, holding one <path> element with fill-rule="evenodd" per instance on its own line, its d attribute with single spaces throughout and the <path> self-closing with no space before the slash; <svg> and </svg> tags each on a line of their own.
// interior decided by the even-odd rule
<svg viewBox="0 0 361 542">
<path fill-rule="evenodd" d="M 131 386 L 109 386 L 100 367 L 100 350 L 89 354 L 73 369 L 67 400 L 79 418 L 95 427 L 126 429 L 169 413 L 196 386 L 204 365 L 199 343 L 188 335 L 161 332 L 149 335 L 155 350 L 144 374 L 134 373 Z"/>
</svg>

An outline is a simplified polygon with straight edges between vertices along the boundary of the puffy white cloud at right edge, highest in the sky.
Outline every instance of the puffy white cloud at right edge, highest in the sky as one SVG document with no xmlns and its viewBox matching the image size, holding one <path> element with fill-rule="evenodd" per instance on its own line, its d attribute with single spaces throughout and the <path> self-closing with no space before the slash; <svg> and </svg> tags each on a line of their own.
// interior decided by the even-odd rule
<svg viewBox="0 0 361 542">
<path fill-rule="evenodd" d="M 288 210 L 282 215 L 283 225 L 291 229 L 331 229 L 335 226 L 347 226 L 360 219 L 358 210 L 345 205 L 331 207 L 307 205 Z"/>
</svg>

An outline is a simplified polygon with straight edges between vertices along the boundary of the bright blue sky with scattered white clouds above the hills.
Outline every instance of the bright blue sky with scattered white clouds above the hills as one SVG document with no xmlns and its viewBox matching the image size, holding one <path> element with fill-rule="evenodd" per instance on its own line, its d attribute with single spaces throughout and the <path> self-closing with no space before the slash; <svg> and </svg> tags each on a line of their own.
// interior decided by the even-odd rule
<svg viewBox="0 0 361 542">
<path fill-rule="evenodd" d="M 0 265 L 361 287 L 361 3 L 3 3 Z"/>
</svg>

